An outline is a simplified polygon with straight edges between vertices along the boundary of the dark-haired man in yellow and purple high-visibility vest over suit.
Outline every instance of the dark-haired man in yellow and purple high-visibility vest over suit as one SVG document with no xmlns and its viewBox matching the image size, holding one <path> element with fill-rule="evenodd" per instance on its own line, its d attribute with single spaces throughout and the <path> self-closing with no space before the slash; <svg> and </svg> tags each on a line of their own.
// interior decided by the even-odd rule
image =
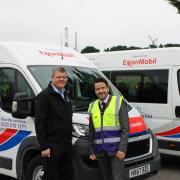
<svg viewBox="0 0 180 180">
<path fill-rule="evenodd" d="M 98 99 L 89 105 L 90 159 L 97 160 L 103 180 L 123 180 L 129 122 L 123 96 L 111 96 L 105 79 L 94 82 Z"/>
</svg>

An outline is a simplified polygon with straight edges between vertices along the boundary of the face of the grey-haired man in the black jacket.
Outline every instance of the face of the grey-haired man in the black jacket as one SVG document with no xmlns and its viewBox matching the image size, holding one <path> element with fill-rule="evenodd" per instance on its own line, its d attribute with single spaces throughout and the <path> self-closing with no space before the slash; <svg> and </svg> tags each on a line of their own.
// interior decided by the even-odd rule
<svg viewBox="0 0 180 180">
<path fill-rule="evenodd" d="M 67 80 L 66 72 L 56 71 L 52 77 L 52 84 L 58 89 L 63 89 L 67 84 Z"/>
</svg>

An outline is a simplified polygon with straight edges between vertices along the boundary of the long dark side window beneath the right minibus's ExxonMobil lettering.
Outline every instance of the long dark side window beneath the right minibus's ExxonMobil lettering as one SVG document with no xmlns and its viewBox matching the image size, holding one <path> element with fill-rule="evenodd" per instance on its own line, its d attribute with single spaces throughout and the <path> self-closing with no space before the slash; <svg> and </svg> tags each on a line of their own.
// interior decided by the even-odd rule
<svg viewBox="0 0 180 180">
<path fill-rule="evenodd" d="M 167 103 L 168 70 L 112 71 L 111 81 L 129 102 Z"/>
</svg>

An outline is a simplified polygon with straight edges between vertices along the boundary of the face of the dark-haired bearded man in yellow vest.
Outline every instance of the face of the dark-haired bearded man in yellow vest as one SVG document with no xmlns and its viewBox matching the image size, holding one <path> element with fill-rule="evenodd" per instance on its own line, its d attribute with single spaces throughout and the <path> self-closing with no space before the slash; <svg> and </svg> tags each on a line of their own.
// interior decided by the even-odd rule
<svg viewBox="0 0 180 180">
<path fill-rule="evenodd" d="M 107 87 L 106 83 L 104 82 L 95 83 L 95 93 L 100 100 L 104 100 L 107 97 L 108 92 L 109 92 L 109 88 Z"/>
</svg>

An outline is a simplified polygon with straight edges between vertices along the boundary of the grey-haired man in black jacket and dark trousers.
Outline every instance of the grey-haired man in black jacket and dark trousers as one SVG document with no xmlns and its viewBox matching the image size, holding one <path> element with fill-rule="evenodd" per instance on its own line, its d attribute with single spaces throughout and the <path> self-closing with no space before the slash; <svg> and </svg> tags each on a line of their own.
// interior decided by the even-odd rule
<svg viewBox="0 0 180 180">
<path fill-rule="evenodd" d="M 51 82 L 36 98 L 35 128 L 44 159 L 43 180 L 72 180 L 72 104 L 67 72 L 53 69 Z"/>
</svg>

